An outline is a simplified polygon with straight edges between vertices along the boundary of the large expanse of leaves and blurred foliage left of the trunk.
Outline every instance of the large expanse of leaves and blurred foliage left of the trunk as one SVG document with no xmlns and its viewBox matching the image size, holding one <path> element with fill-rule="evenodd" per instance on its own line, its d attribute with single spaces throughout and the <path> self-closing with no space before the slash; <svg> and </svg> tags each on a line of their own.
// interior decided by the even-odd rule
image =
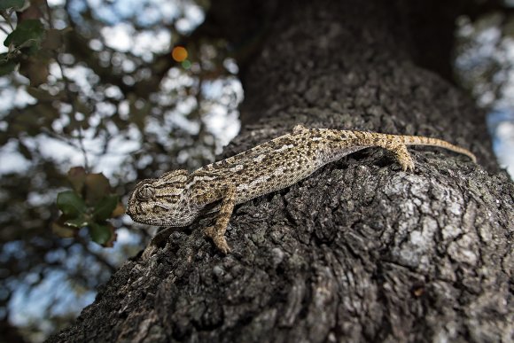
<svg viewBox="0 0 514 343">
<path fill-rule="evenodd" d="M 0 2 L 0 337 L 69 324 L 151 236 L 121 215 L 136 181 L 198 168 L 237 133 L 238 67 L 194 34 L 208 6 Z"/>
</svg>

